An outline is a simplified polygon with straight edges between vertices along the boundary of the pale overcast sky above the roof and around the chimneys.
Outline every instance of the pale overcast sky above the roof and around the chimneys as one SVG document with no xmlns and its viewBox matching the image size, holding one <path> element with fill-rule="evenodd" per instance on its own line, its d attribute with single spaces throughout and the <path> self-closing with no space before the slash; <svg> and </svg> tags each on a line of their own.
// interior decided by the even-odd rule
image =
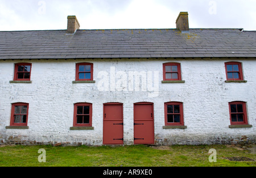
<svg viewBox="0 0 256 178">
<path fill-rule="evenodd" d="M 256 30 L 256 0 L 0 0 L 0 31 L 176 28 L 187 11 L 190 28 Z"/>
</svg>

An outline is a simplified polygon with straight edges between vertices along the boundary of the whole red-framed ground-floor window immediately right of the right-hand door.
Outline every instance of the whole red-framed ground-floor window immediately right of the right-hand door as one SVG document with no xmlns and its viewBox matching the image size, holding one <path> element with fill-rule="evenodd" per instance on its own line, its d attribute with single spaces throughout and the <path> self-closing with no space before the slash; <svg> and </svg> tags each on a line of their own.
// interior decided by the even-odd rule
<svg viewBox="0 0 256 178">
<path fill-rule="evenodd" d="M 164 118 L 166 126 L 183 126 L 183 104 L 181 102 L 166 102 Z"/>
</svg>

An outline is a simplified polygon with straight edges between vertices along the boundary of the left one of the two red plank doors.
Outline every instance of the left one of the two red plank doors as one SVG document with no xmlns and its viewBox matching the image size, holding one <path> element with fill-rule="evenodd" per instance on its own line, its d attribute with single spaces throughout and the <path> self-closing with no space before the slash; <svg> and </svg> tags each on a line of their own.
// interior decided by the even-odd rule
<svg viewBox="0 0 256 178">
<path fill-rule="evenodd" d="M 104 104 L 103 144 L 123 144 L 123 104 Z"/>
</svg>

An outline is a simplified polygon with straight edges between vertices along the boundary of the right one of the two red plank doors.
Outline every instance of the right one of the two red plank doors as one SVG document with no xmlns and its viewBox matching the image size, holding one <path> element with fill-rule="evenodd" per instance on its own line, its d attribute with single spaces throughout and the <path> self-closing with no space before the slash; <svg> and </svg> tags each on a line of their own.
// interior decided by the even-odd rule
<svg viewBox="0 0 256 178">
<path fill-rule="evenodd" d="M 134 104 L 134 144 L 154 144 L 153 104 Z"/>
</svg>

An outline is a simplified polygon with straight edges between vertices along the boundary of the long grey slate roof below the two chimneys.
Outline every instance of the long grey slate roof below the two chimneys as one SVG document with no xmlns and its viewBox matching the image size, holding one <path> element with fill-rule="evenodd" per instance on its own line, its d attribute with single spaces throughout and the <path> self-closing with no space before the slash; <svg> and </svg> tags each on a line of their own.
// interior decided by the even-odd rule
<svg viewBox="0 0 256 178">
<path fill-rule="evenodd" d="M 176 29 L 0 31 L 0 59 L 256 57 L 256 31 Z"/>
</svg>

